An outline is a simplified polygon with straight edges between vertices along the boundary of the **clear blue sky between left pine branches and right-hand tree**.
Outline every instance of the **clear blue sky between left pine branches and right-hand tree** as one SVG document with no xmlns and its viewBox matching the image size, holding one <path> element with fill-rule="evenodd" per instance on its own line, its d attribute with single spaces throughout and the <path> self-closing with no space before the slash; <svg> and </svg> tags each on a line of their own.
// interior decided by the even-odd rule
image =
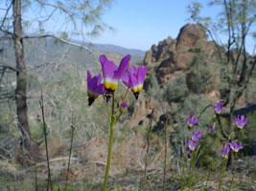
<svg viewBox="0 0 256 191">
<path fill-rule="evenodd" d="M 104 32 L 93 43 L 114 44 L 147 51 L 152 44 L 169 35 L 176 38 L 180 28 L 188 23 L 186 6 L 192 0 L 116 0 L 105 11 L 103 19 L 116 32 Z M 200 2 L 205 2 L 201 0 Z M 204 7 L 203 15 L 215 15 L 218 10 Z"/>
</svg>

